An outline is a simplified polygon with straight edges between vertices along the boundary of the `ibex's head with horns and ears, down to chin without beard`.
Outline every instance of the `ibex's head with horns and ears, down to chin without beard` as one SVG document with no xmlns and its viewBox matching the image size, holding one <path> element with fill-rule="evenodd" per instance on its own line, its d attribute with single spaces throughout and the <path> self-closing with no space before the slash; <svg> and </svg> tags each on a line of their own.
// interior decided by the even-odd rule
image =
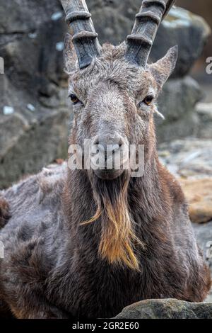
<svg viewBox="0 0 212 333">
<path fill-rule="evenodd" d="M 101 179 L 122 174 L 126 155 L 120 153 L 129 145 L 144 145 L 146 158 L 151 154 L 155 101 L 175 68 L 177 47 L 155 64 L 147 60 L 160 21 L 173 2 L 144 0 L 127 43 L 100 47 L 85 1 L 61 1 L 71 27 L 64 50 L 74 111 L 71 143 L 83 147 L 90 139 L 98 151 L 112 152 L 110 157 L 103 154 L 105 169 L 93 165 Z M 107 163 L 116 155 L 122 156 L 119 169 Z"/>
</svg>

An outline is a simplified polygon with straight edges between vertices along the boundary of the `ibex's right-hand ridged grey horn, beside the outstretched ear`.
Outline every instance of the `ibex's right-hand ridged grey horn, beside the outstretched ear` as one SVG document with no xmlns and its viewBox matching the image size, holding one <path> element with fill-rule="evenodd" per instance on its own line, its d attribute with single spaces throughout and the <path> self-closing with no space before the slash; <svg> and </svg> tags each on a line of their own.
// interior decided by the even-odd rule
<svg viewBox="0 0 212 333">
<path fill-rule="evenodd" d="M 131 35 L 127 36 L 126 59 L 145 68 L 160 22 L 175 0 L 143 0 Z"/>
</svg>

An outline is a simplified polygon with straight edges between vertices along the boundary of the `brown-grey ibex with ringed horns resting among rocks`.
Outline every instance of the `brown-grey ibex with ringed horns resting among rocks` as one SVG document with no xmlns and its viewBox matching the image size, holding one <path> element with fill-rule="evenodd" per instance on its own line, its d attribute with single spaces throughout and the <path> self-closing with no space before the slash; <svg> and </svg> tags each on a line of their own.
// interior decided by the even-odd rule
<svg viewBox="0 0 212 333">
<path fill-rule="evenodd" d="M 86 2 L 61 0 L 71 28 L 64 47 L 74 113 L 69 144 L 92 138 L 100 149 L 112 145 L 114 155 L 124 142 L 143 145 L 144 174 L 64 164 L 2 193 L 10 214 L 4 211 L 0 238 L 2 314 L 112 317 L 139 300 L 206 297 L 210 273 L 187 203 L 155 148 L 156 99 L 177 47 L 154 64 L 148 57 L 173 2 L 143 0 L 126 43 L 101 47 Z"/>
</svg>

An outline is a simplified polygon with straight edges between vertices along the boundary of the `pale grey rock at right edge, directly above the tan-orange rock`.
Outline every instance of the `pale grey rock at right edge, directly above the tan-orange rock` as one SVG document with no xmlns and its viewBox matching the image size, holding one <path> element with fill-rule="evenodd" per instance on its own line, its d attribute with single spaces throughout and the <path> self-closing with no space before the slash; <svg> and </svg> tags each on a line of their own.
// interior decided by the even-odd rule
<svg viewBox="0 0 212 333">
<path fill-rule="evenodd" d="M 165 152 L 165 155 L 164 155 Z M 211 140 L 187 138 L 159 146 L 161 161 L 176 176 L 203 179 L 212 176 Z"/>
</svg>

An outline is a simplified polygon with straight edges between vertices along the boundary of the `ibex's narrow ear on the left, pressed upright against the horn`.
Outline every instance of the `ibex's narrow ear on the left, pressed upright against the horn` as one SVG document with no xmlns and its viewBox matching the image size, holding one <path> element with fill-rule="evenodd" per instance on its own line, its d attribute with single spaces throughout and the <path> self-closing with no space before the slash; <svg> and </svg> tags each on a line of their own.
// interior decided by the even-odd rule
<svg viewBox="0 0 212 333">
<path fill-rule="evenodd" d="M 66 33 L 64 40 L 64 70 L 66 74 L 73 73 L 77 64 L 77 56 L 71 39 L 71 35 Z"/>
</svg>

